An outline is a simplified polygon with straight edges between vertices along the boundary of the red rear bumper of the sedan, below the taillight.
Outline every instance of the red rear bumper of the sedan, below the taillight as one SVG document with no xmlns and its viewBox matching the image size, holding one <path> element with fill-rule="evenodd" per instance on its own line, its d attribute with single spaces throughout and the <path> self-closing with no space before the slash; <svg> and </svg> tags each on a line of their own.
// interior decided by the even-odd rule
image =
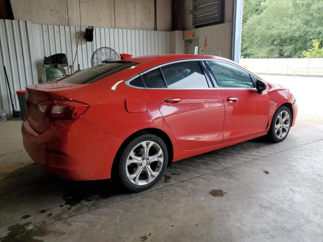
<svg viewBox="0 0 323 242">
<path fill-rule="evenodd" d="M 122 140 L 80 119 L 55 120 L 42 134 L 25 119 L 23 144 L 37 163 L 65 179 L 93 180 L 111 177 L 112 163 Z"/>
</svg>

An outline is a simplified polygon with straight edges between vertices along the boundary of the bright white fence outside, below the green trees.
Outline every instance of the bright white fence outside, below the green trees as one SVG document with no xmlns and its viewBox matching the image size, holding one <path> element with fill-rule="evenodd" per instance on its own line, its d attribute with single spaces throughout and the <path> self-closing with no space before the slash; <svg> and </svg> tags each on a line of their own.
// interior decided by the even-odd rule
<svg viewBox="0 0 323 242">
<path fill-rule="evenodd" d="M 259 74 L 323 76 L 323 58 L 241 58 L 240 65 Z"/>
</svg>

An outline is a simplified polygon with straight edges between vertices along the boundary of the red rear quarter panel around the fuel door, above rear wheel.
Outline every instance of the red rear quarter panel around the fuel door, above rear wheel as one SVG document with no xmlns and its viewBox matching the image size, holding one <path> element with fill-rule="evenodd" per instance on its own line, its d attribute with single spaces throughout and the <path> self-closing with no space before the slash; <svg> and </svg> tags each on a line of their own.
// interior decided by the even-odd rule
<svg viewBox="0 0 323 242">
<path fill-rule="evenodd" d="M 133 73 L 125 78 L 124 74 L 116 74 L 113 78 L 102 79 L 90 85 L 85 91 L 67 95 L 65 98 L 89 104 L 88 110 L 80 119 L 119 139 L 125 140 L 147 128 L 164 131 L 173 144 L 173 160 L 178 160 L 177 156 L 181 157 L 182 150 L 178 147 L 153 99 L 146 89 L 132 88 L 125 84 L 126 80 L 135 75 L 136 73 Z M 126 100 L 140 100 L 141 104 L 146 101 L 147 108 L 143 108 L 142 111 L 127 110 Z"/>
</svg>

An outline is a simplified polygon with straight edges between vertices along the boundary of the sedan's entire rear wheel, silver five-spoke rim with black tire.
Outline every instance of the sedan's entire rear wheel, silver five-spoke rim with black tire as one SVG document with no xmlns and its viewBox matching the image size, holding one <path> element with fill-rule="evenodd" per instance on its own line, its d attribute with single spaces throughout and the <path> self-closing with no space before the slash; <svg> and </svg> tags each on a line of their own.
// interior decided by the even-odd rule
<svg viewBox="0 0 323 242">
<path fill-rule="evenodd" d="M 152 134 L 140 135 L 127 145 L 121 155 L 120 181 L 132 192 L 147 190 L 163 176 L 167 163 L 165 142 Z"/>
</svg>

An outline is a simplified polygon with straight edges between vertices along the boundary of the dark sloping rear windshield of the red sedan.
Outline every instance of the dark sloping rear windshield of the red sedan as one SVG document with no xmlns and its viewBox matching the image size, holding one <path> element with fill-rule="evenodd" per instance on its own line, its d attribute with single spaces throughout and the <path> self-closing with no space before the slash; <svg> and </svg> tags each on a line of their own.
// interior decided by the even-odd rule
<svg viewBox="0 0 323 242">
<path fill-rule="evenodd" d="M 75 83 L 75 84 L 89 84 L 99 81 L 105 77 L 109 77 L 117 72 L 125 70 L 129 67 L 135 66 L 137 63 L 125 61 L 112 61 L 106 64 L 90 67 L 83 71 L 73 74 L 70 77 L 63 79 L 60 82 Z"/>
</svg>

